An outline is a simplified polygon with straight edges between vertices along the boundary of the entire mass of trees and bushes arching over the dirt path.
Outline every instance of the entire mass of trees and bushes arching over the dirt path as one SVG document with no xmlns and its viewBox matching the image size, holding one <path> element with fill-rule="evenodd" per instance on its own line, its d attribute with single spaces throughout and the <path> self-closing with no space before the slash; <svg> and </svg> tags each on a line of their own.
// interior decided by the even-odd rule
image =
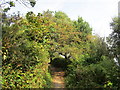
<svg viewBox="0 0 120 90">
<path fill-rule="evenodd" d="M 114 55 L 81 17 L 49 10 L 3 16 L 3 88 L 50 88 L 48 63 L 66 70 L 66 87 L 119 88 Z"/>
</svg>

